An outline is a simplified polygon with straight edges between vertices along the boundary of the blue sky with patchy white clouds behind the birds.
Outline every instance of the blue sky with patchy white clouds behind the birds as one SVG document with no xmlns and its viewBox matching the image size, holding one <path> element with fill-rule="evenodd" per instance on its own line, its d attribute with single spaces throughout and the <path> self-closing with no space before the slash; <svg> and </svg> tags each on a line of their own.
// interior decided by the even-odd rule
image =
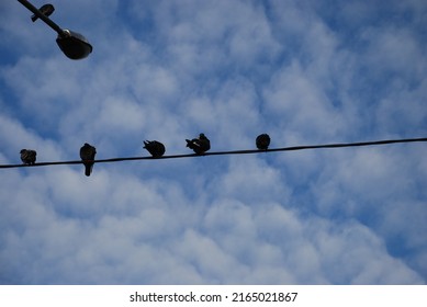
<svg viewBox="0 0 427 307">
<path fill-rule="evenodd" d="M 93 53 L 1 1 L 0 164 L 427 136 L 424 0 L 53 4 Z M 0 283 L 426 284 L 426 149 L 0 169 Z"/>
</svg>

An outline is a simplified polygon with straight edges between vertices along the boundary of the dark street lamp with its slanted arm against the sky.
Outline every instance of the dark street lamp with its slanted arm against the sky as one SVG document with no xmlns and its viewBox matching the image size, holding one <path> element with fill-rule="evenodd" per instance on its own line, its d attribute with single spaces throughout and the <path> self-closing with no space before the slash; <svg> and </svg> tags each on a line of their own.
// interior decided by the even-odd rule
<svg viewBox="0 0 427 307">
<path fill-rule="evenodd" d="M 82 59 L 89 56 L 92 52 L 92 46 L 89 44 L 88 39 L 79 33 L 72 32 L 70 30 L 63 30 L 53 22 L 48 16 L 43 14 L 37 8 L 31 4 L 26 0 L 18 0 L 22 5 L 32 11 L 37 18 L 43 20 L 48 26 L 50 26 L 58 37 L 56 43 L 63 53 L 70 59 Z"/>
</svg>

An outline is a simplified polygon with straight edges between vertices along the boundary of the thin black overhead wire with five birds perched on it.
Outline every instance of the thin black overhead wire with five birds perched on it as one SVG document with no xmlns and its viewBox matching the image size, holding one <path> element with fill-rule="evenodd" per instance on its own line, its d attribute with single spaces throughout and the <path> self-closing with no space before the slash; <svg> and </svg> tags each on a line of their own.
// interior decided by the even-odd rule
<svg viewBox="0 0 427 307">
<path fill-rule="evenodd" d="M 282 148 L 271 148 L 266 150 L 249 149 L 249 150 L 231 150 L 231 151 L 212 151 L 203 155 L 189 154 L 189 155 L 171 155 L 162 156 L 159 158 L 154 157 L 130 157 L 130 158 L 111 158 L 94 160 L 94 163 L 111 163 L 121 161 L 133 161 L 133 160 L 161 160 L 161 159 L 178 159 L 178 158 L 194 158 L 205 156 L 223 156 L 223 155 L 248 155 L 248 154 L 260 154 L 260 152 L 276 152 L 276 151 L 295 151 L 306 149 L 322 149 L 322 148 L 344 148 L 344 147 L 361 147 L 361 146 L 378 146 L 397 143 L 415 143 L 415 141 L 427 141 L 427 138 L 405 138 L 405 139 L 385 139 L 374 141 L 360 141 L 360 143 L 338 143 L 338 144 L 324 144 L 324 145 L 304 145 L 304 146 L 292 146 Z M 38 162 L 34 164 L 0 164 L 0 169 L 11 168 L 26 168 L 26 167 L 45 167 L 45 166 L 61 166 L 61 164 L 81 164 L 81 160 L 72 161 L 57 161 L 57 162 Z"/>
</svg>

